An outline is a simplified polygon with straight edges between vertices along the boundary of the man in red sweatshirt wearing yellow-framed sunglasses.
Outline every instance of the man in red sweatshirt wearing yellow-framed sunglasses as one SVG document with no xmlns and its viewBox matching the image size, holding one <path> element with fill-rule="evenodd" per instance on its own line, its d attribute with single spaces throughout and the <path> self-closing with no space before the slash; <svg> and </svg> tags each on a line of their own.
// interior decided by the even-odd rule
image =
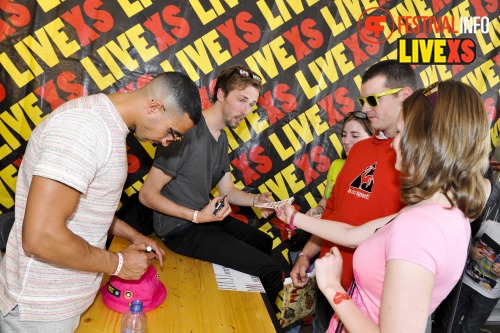
<svg viewBox="0 0 500 333">
<path fill-rule="evenodd" d="M 402 102 L 416 88 L 417 80 L 411 66 L 395 60 L 381 61 L 363 74 L 358 101 L 377 132 L 352 147 L 326 203 L 322 219 L 356 226 L 394 214 L 402 208 L 399 173 L 395 169 L 396 154 L 391 143 Z M 300 288 L 307 283 L 310 260 L 318 253 L 324 255 L 333 246 L 336 245 L 318 236 L 310 238 L 290 273 L 295 287 Z M 348 290 L 354 276 L 354 249 L 337 247 L 343 258 L 342 286 Z M 318 293 L 313 332 L 325 332 L 332 314 L 332 307 Z"/>
</svg>

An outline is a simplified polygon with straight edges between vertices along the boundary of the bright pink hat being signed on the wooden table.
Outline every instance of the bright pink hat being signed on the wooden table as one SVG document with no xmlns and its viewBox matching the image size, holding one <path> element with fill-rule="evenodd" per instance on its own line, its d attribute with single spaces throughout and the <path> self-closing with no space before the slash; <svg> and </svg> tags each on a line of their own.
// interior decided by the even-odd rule
<svg viewBox="0 0 500 333">
<path fill-rule="evenodd" d="M 101 287 L 101 295 L 104 304 L 112 310 L 125 313 L 130 309 L 132 301 L 140 299 L 144 312 L 147 312 L 161 305 L 167 297 L 167 289 L 160 281 L 156 268 L 150 265 L 137 281 L 112 276 Z"/>
</svg>

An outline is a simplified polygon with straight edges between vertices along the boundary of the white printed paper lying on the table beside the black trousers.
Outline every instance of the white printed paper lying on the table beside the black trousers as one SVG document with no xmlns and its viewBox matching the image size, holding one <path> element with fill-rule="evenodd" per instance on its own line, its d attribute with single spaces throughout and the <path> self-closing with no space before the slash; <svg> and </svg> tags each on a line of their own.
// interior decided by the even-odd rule
<svg viewBox="0 0 500 333">
<path fill-rule="evenodd" d="M 220 290 L 250 291 L 265 293 L 257 276 L 242 273 L 232 268 L 212 263 L 215 281 Z"/>
</svg>

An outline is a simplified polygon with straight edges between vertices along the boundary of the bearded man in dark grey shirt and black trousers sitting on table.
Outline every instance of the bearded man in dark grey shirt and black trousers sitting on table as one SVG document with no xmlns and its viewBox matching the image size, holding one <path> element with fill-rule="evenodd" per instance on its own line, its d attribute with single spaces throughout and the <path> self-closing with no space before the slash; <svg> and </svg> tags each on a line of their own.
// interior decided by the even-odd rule
<svg viewBox="0 0 500 333">
<path fill-rule="evenodd" d="M 271 237 L 228 216 L 229 203 L 272 201 L 271 193 L 256 195 L 234 187 L 224 131 L 238 127 L 250 113 L 261 84 L 260 76 L 244 66 L 224 69 L 200 123 L 182 142 L 157 151 L 139 200 L 154 210 L 155 232 L 170 250 L 258 276 L 274 305 L 282 280 L 281 268 L 271 258 Z M 215 186 L 220 197 L 210 201 Z M 220 210 L 218 202 L 223 203 Z"/>
</svg>

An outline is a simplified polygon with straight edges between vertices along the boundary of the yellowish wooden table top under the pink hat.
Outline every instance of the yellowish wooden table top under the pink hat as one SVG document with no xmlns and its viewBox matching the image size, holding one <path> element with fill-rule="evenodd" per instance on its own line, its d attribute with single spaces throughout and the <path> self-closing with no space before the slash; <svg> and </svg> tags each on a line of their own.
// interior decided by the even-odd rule
<svg viewBox="0 0 500 333">
<path fill-rule="evenodd" d="M 147 333 L 280 330 L 260 293 L 219 290 L 211 263 L 174 253 L 156 236 L 153 238 L 165 251 L 163 268 L 158 262 L 154 265 L 167 288 L 167 297 L 158 308 L 146 313 Z M 115 237 L 110 251 L 119 252 L 128 244 L 125 239 Z M 103 284 L 108 280 L 105 275 Z M 122 316 L 107 308 L 98 292 L 92 306 L 81 316 L 76 332 L 119 333 Z"/>
</svg>

